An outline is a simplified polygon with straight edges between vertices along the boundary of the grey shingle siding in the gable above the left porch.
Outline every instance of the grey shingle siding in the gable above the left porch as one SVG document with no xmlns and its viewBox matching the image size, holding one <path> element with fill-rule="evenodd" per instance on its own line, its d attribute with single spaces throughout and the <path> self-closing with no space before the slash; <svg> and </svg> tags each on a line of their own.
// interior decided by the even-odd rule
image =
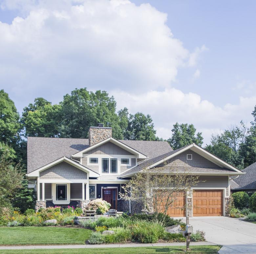
<svg viewBox="0 0 256 254">
<path fill-rule="evenodd" d="M 40 172 L 40 179 L 87 179 L 87 173 L 66 162 L 60 162 Z"/>
</svg>

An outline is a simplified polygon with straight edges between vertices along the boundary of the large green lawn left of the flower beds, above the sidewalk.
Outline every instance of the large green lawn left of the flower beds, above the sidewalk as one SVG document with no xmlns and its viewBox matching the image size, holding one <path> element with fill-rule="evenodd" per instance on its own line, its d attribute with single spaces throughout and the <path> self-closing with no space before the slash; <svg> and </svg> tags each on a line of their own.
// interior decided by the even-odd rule
<svg viewBox="0 0 256 254">
<path fill-rule="evenodd" d="M 0 227 L 0 245 L 85 244 L 91 232 L 74 227 Z"/>
</svg>

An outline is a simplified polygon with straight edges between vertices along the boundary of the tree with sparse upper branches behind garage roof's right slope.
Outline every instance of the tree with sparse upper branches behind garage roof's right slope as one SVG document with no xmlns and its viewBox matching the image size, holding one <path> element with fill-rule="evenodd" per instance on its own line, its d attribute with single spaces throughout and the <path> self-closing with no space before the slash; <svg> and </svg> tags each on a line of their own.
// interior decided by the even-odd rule
<svg viewBox="0 0 256 254">
<path fill-rule="evenodd" d="M 245 142 L 248 128 L 243 123 L 231 126 L 223 133 L 212 135 L 210 145 L 205 149 L 227 163 L 239 168 L 244 168 L 244 159 L 241 156 L 240 148 Z"/>
</svg>

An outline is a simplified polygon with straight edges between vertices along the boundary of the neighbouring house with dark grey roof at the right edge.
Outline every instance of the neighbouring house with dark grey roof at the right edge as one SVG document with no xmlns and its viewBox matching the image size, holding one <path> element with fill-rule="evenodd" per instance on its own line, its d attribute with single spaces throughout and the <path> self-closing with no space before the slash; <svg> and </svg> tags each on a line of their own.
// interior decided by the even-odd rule
<svg viewBox="0 0 256 254">
<path fill-rule="evenodd" d="M 256 162 L 242 171 L 246 174 L 230 181 L 231 192 L 245 191 L 251 196 L 256 191 Z"/>
</svg>

